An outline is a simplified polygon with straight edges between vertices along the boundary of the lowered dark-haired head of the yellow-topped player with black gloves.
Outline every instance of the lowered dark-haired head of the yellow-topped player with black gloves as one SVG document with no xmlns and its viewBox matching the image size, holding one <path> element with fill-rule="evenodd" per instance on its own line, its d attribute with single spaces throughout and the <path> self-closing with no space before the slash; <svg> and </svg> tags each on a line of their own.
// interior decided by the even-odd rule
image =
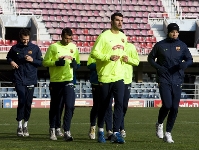
<svg viewBox="0 0 199 150">
<path fill-rule="evenodd" d="M 72 41 L 73 31 L 70 28 L 64 28 L 61 33 L 61 43 L 68 45 Z"/>
</svg>

